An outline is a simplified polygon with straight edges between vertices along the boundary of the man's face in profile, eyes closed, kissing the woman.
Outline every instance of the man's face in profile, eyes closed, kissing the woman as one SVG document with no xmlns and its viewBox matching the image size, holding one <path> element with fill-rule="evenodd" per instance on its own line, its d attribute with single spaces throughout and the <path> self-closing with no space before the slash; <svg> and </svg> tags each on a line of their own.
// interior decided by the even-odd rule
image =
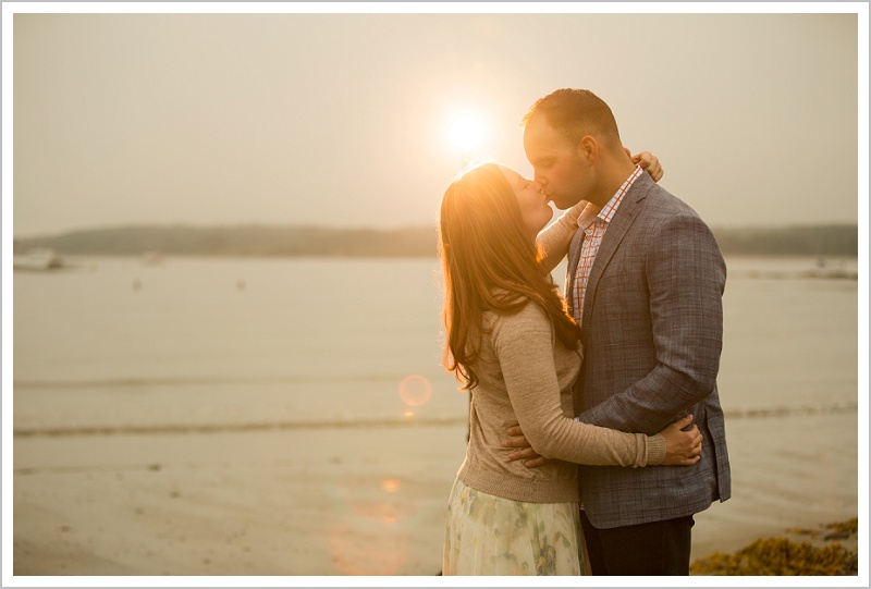
<svg viewBox="0 0 871 589">
<path fill-rule="evenodd" d="M 592 170 L 578 146 L 551 126 L 543 116 L 532 118 L 524 130 L 526 159 L 532 164 L 535 180 L 544 194 L 561 209 L 588 199 L 592 189 Z"/>
</svg>

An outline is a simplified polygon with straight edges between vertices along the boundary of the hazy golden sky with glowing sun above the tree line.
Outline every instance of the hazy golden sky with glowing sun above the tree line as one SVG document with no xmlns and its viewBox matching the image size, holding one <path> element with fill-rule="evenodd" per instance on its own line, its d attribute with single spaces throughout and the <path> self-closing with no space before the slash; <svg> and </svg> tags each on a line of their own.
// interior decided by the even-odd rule
<svg viewBox="0 0 871 589">
<path fill-rule="evenodd" d="M 560 87 L 603 98 L 710 225 L 859 220 L 855 13 L 12 19 L 16 236 L 434 224 L 465 159 L 531 172 L 519 118 Z"/>
</svg>

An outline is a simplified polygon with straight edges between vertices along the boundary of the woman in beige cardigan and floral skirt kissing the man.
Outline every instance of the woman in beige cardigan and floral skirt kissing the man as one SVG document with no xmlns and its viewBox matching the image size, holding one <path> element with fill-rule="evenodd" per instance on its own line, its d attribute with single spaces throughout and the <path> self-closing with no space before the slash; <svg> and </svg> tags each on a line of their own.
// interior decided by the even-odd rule
<svg viewBox="0 0 871 589">
<path fill-rule="evenodd" d="M 564 253 L 580 207 L 536 236 L 553 212 L 541 186 L 484 163 L 445 192 L 440 220 L 445 367 L 471 392 L 469 443 L 449 501 L 443 575 L 579 575 L 576 464 L 691 465 L 701 435 L 692 417 L 657 435 L 575 421 L 578 327 L 542 263 Z M 549 459 L 507 459 L 505 428 L 519 424 Z"/>
</svg>

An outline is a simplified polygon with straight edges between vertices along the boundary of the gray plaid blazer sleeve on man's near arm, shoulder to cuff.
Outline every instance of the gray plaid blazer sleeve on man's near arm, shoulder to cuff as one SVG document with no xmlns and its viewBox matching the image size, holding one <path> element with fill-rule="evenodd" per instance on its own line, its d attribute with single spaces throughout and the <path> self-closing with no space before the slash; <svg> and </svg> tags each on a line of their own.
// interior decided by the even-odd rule
<svg viewBox="0 0 871 589">
<path fill-rule="evenodd" d="M 667 219 L 649 244 L 645 269 L 657 365 L 580 421 L 661 431 L 716 386 L 726 267 L 710 229 L 692 214 Z"/>
</svg>

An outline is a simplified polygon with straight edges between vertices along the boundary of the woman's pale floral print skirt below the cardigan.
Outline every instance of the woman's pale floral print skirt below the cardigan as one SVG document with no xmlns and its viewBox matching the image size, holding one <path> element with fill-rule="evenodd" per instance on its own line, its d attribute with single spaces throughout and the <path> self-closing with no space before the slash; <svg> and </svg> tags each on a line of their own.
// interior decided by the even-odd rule
<svg viewBox="0 0 871 589">
<path fill-rule="evenodd" d="M 442 575 L 581 575 L 577 503 L 526 503 L 457 479 L 447 502 Z"/>
</svg>

